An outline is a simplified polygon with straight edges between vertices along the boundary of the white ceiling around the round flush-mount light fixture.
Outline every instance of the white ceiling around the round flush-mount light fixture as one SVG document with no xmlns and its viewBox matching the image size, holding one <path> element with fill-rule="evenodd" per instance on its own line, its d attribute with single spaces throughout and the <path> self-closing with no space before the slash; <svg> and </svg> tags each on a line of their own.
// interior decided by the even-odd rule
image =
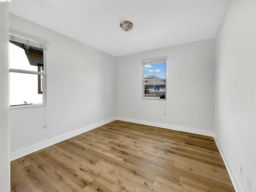
<svg viewBox="0 0 256 192">
<path fill-rule="evenodd" d="M 12 0 L 10 13 L 113 56 L 214 38 L 229 0 Z M 129 32 L 120 22 L 129 20 Z"/>
</svg>

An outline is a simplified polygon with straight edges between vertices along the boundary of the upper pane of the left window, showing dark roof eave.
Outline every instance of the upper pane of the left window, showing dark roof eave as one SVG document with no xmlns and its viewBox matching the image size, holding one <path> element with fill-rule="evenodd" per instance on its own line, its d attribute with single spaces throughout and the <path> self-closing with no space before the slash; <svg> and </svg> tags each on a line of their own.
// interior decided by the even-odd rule
<svg viewBox="0 0 256 192">
<path fill-rule="evenodd" d="M 43 50 L 10 41 L 10 68 L 28 71 L 38 71 L 38 66 L 44 66 Z"/>
</svg>

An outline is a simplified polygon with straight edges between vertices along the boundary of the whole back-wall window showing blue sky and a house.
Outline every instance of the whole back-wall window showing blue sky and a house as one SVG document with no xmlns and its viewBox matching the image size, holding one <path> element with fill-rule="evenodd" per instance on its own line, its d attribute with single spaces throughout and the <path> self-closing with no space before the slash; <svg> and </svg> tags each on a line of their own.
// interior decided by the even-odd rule
<svg viewBox="0 0 256 192">
<path fill-rule="evenodd" d="M 166 59 L 167 56 L 142 60 L 143 99 L 166 100 Z"/>
</svg>

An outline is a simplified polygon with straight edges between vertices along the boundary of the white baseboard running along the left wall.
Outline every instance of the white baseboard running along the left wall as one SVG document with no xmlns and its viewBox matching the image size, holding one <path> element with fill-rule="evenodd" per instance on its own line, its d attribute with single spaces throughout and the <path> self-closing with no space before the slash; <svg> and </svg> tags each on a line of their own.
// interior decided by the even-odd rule
<svg viewBox="0 0 256 192">
<path fill-rule="evenodd" d="M 109 119 L 103 120 L 101 122 L 98 122 L 98 123 L 95 123 L 95 124 L 92 124 L 92 125 L 80 128 L 78 130 L 74 130 L 72 132 L 68 132 L 66 134 L 63 134 L 63 135 L 51 138 L 49 140 L 46 140 L 46 141 L 34 144 L 32 146 L 28 146 L 26 148 L 22 148 L 20 150 L 11 152 L 10 153 L 10 160 L 12 161 L 12 160 L 18 159 L 18 158 L 23 157 L 25 155 L 28 155 L 28 154 L 30 154 L 32 152 L 38 151 L 40 149 L 46 148 L 48 146 L 51 146 L 51 145 L 56 144 L 58 142 L 61 142 L 63 140 L 66 140 L 66 139 L 69 139 L 69 138 L 74 137 L 76 135 L 82 134 L 84 132 L 87 132 L 89 130 L 92 130 L 94 128 L 97 128 L 99 126 L 107 124 L 109 122 L 112 122 L 114 120 L 116 120 L 116 117 L 109 118 Z"/>
</svg>

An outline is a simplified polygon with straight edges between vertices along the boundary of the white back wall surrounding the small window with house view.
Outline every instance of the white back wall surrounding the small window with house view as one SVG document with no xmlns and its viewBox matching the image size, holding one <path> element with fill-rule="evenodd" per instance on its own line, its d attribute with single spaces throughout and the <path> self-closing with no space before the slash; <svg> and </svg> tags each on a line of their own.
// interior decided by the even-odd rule
<svg viewBox="0 0 256 192">
<path fill-rule="evenodd" d="M 141 60 L 166 55 L 164 115 L 164 101 L 142 100 Z M 118 57 L 117 116 L 123 120 L 130 118 L 130 121 L 144 124 L 211 134 L 214 130 L 214 39 Z"/>
</svg>

